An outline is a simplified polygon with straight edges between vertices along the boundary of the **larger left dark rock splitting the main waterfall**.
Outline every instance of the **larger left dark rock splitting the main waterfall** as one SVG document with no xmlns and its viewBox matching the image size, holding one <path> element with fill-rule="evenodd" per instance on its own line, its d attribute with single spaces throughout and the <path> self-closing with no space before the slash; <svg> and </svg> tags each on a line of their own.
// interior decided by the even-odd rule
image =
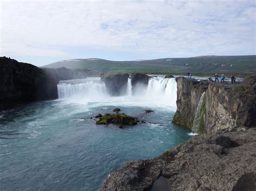
<svg viewBox="0 0 256 191">
<path fill-rule="evenodd" d="M 104 74 L 101 80 L 105 83 L 110 95 L 120 96 L 127 92 L 129 74 Z"/>
</svg>

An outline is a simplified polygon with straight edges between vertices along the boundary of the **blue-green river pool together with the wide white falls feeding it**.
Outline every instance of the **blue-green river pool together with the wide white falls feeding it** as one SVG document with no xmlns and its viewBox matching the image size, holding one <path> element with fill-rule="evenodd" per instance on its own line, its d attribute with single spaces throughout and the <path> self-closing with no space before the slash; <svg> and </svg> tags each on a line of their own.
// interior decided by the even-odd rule
<svg viewBox="0 0 256 191">
<path fill-rule="evenodd" d="M 111 97 L 99 78 L 60 81 L 58 100 L 0 113 L 0 190 L 97 190 L 127 161 L 151 159 L 189 139 L 171 122 L 175 79 L 153 77 L 149 86 Z M 146 123 L 96 125 L 114 108 Z M 150 114 L 145 109 L 154 110 Z"/>
</svg>

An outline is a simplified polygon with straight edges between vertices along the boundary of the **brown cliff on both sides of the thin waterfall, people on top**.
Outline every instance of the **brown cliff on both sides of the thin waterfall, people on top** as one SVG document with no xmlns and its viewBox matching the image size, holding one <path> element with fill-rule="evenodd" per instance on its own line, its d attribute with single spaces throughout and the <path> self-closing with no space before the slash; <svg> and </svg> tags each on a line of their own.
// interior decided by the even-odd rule
<svg viewBox="0 0 256 191">
<path fill-rule="evenodd" d="M 234 131 L 256 126 L 255 77 L 238 85 L 221 84 L 178 77 L 177 112 L 173 123 L 193 129 L 194 117 L 199 109 L 198 133 Z M 203 104 L 198 108 L 201 95 Z M 196 128 L 198 129 L 198 128 Z"/>
</svg>

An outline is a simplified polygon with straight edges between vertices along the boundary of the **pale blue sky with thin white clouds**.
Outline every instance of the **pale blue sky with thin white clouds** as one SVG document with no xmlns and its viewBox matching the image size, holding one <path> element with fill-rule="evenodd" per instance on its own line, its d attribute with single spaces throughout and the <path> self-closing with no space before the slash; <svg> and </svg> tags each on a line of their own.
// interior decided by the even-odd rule
<svg viewBox="0 0 256 191">
<path fill-rule="evenodd" d="M 0 56 L 43 66 L 256 54 L 254 0 L 0 0 Z"/>
</svg>

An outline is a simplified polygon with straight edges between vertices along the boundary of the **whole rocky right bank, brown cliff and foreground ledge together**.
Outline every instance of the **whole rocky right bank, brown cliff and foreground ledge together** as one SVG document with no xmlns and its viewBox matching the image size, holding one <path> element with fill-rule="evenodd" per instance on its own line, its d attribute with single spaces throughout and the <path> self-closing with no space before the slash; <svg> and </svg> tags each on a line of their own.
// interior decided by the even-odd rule
<svg viewBox="0 0 256 191">
<path fill-rule="evenodd" d="M 256 190 L 256 75 L 236 85 L 176 80 L 173 122 L 203 135 L 128 162 L 100 190 Z"/>
</svg>

